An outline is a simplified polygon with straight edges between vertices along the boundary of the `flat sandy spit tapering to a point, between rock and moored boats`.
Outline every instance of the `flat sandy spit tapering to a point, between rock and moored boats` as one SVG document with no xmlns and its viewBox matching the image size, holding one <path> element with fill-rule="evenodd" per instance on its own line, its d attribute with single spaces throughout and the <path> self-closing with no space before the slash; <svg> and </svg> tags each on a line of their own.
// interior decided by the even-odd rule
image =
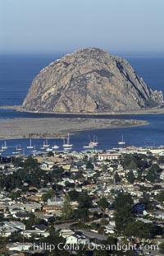
<svg viewBox="0 0 164 256">
<path fill-rule="evenodd" d="M 67 133 L 72 134 L 84 130 L 125 128 L 146 124 L 148 122 L 134 119 L 10 119 L 0 121 L 0 139 L 66 137 Z"/>
</svg>

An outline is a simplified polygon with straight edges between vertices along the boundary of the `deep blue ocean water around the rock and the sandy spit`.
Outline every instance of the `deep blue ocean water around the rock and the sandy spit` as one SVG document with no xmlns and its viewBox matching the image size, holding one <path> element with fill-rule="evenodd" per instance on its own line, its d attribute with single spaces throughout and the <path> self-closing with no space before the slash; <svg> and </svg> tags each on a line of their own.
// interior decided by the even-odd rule
<svg viewBox="0 0 164 256">
<path fill-rule="evenodd" d="M 21 105 L 27 91 L 30 88 L 33 78 L 39 70 L 47 66 L 62 54 L 54 55 L 1 55 L 0 56 L 0 105 Z M 164 93 L 164 57 L 148 56 L 129 56 L 125 59 L 134 67 L 135 72 L 143 77 L 144 81 L 153 90 Z M 31 114 L 16 112 L 11 109 L 0 109 L 0 122 L 2 119 L 16 118 L 44 118 L 52 116 L 66 117 L 66 115 L 57 114 Z M 74 144 L 73 149 L 82 150 L 83 146 L 88 144 L 93 136 L 98 137 L 98 149 L 107 150 L 112 147 L 118 147 L 118 141 L 121 135 L 124 135 L 126 145 L 134 146 L 160 146 L 164 145 L 164 114 L 135 114 L 135 115 L 111 115 L 100 116 L 99 118 L 107 119 L 143 119 L 148 121 L 149 125 L 134 128 L 111 128 L 103 130 L 92 130 L 76 133 L 71 136 L 71 142 Z M 74 116 L 71 116 L 74 118 Z M 90 118 L 90 117 L 89 117 Z M 93 116 L 94 118 L 94 116 Z M 0 123 L 1 125 L 1 123 Z M 0 126 L 1 128 L 1 126 Z M 0 147 L 4 140 L 0 140 Z M 62 149 L 62 140 L 56 140 L 57 145 Z M 8 140 L 8 149 L 2 152 L 2 156 L 11 155 L 16 151 L 16 145 L 25 148 L 25 154 L 30 154 L 26 149 L 29 140 Z M 39 150 L 43 144 L 43 139 L 33 139 L 33 145 Z M 48 140 L 48 144 L 53 146 L 54 140 Z"/>
</svg>

